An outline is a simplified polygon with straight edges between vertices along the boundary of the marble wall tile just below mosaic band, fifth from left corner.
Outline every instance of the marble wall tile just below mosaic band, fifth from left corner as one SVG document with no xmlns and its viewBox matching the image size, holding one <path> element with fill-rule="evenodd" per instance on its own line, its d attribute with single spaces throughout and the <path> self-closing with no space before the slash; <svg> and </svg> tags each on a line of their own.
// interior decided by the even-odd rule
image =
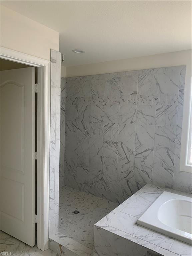
<svg viewBox="0 0 192 256">
<path fill-rule="evenodd" d="M 120 103 L 119 123 L 134 124 L 136 122 L 136 105 L 128 104 L 123 99 Z"/>
</svg>

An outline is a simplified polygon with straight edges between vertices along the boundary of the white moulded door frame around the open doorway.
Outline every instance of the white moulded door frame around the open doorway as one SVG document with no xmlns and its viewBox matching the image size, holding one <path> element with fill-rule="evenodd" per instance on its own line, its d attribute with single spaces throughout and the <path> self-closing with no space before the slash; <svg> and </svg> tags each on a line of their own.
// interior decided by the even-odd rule
<svg viewBox="0 0 192 256">
<path fill-rule="evenodd" d="M 38 67 L 37 247 L 49 248 L 50 61 L 0 46 L 0 58 Z"/>
</svg>

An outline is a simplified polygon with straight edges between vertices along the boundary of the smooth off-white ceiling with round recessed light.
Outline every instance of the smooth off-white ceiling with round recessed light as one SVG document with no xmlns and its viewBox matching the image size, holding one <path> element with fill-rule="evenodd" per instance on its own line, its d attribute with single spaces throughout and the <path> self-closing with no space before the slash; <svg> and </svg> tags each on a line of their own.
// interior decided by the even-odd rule
<svg viewBox="0 0 192 256">
<path fill-rule="evenodd" d="M 60 33 L 64 66 L 191 49 L 191 1 L 1 1 Z M 84 50 L 84 54 L 73 53 Z"/>
</svg>

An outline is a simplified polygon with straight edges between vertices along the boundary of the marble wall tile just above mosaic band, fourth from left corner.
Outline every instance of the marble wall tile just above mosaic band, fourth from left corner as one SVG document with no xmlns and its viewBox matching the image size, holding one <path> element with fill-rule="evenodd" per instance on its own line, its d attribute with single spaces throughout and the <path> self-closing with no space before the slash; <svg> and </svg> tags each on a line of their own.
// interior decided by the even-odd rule
<svg viewBox="0 0 192 256">
<path fill-rule="evenodd" d="M 120 96 L 120 77 L 107 79 L 105 83 L 105 96 Z"/>
</svg>

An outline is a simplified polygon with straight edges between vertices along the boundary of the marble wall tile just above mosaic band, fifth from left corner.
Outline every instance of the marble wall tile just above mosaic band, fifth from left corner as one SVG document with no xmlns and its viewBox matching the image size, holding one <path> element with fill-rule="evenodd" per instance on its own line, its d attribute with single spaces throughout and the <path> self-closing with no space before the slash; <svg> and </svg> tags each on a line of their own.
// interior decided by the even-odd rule
<svg viewBox="0 0 192 256">
<path fill-rule="evenodd" d="M 121 94 L 137 94 L 138 76 L 121 77 Z"/>
</svg>

